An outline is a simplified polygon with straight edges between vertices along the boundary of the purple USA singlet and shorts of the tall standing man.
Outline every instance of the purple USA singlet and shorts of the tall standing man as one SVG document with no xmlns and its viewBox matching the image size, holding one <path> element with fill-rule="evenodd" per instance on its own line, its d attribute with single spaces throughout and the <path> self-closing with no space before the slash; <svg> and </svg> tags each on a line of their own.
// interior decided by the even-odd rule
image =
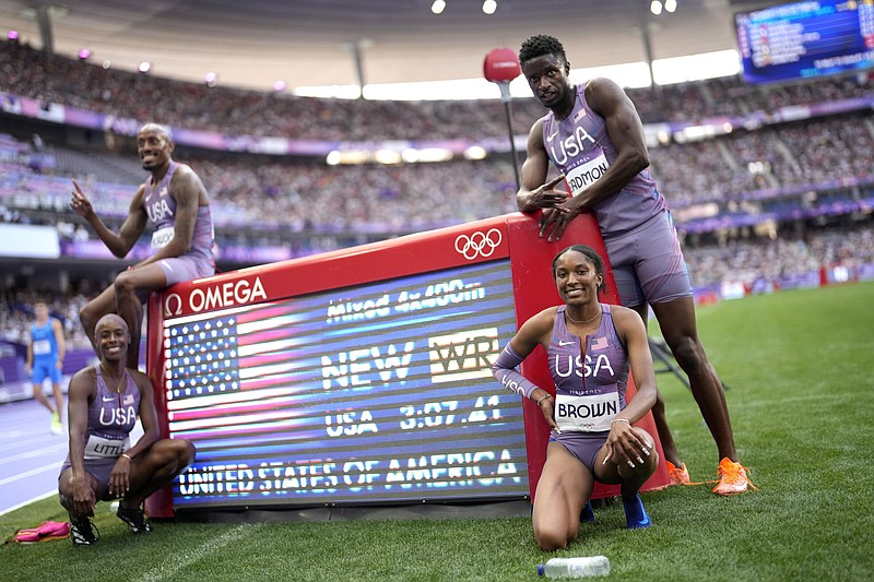
<svg viewBox="0 0 874 582">
<path fill-rule="evenodd" d="M 586 100 L 584 85 L 567 119 L 543 118 L 543 145 L 566 176 L 572 194 L 597 182 L 614 163 L 616 147 L 604 118 Z M 686 262 L 656 180 L 645 169 L 615 195 L 592 206 L 607 249 L 622 304 L 635 307 L 692 296 Z"/>
</svg>

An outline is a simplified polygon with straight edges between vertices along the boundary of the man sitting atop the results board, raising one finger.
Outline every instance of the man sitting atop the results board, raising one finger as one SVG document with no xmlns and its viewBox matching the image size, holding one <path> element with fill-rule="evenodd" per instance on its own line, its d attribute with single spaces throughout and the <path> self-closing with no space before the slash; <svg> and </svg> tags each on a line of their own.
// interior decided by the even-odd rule
<svg viewBox="0 0 874 582">
<path fill-rule="evenodd" d="M 137 150 L 149 178 L 140 186 L 130 204 L 130 212 L 118 233 L 101 221 L 87 197 L 73 180 L 70 206 L 85 218 L 101 240 L 119 259 L 128 252 L 145 230 L 154 224 L 154 254 L 119 273 L 113 285 L 92 299 L 79 318 L 95 353 L 94 326 L 106 313 L 118 313 L 131 333 L 127 366 L 137 369 L 140 355 L 140 330 L 143 306 L 150 292 L 161 290 L 182 281 L 215 273 L 213 224 L 210 197 L 198 175 L 189 166 L 170 158 L 175 144 L 168 128 L 146 123 L 137 136 Z"/>
</svg>

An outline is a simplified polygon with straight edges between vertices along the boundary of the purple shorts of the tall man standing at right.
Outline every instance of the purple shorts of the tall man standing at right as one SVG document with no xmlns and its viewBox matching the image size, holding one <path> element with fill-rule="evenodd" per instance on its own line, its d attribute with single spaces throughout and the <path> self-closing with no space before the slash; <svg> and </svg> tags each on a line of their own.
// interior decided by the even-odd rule
<svg viewBox="0 0 874 582">
<path fill-rule="evenodd" d="M 625 307 L 692 297 L 692 281 L 674 221 L 664 212 L 640 228 L 604 239 Z"/>
</svg>

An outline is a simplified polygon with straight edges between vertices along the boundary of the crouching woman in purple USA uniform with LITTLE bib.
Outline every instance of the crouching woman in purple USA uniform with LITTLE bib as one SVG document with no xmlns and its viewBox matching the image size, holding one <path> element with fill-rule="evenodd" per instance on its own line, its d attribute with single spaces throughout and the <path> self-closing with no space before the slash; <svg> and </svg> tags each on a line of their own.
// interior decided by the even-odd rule
<svg viewBox="0 0 874 582">
<path fill-rule="evenodd" d="M 104 316 L 95 326 L 95 338 L 101 363 L 70 380 L 70 453 L 58 477 L 76 546 L 97 541 L 88 518 L 98 500 L 119 499 L 118 518 L 133 533 L 149 532 L 143 501 L 194 460 L 191 442 L 158 440 L 152 383 L 144 373 L 125 367 L 130 344 L 125 320 Z M 129 433 L 138 416 L 143 436 L 131 447 Z"/>
</svg>

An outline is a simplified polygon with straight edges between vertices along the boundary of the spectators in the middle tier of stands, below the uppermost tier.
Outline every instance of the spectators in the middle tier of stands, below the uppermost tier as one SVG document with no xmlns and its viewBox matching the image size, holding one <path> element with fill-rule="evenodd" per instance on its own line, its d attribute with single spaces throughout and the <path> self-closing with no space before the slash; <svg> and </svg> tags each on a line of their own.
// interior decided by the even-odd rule
<svg viewBox="0 0 874 582">
<path fill-rule="evenodd" d="M 126 214 L 137 183 L 127 176 L 135 175 L 135 167 L 113 181 L 101 181 L 87 174 L 90 168 L 60 162 L 36 171 L 28 153 L 9 145 L 9 141 L 8 136 L 0 140 L 0 159 L 5 170 L 0 177 L 3 221 L 24 222 L 28 219 L 23 214 L 26 210 L 62 212 L 69 202 L 71 176 L 97 191 L 95 202 L 104 212 L 110 216 Z M 843 190 L 847 199 L 863 194 L 870 198 L 865 192 L 874 185 L 874 122 L 864 115 L 839 116 L 803 126 L 653 147 L 650 156 L 652 173 L 675 211 L 717 203 L 720 212 L 733 212 L 736 202 L 744 201 L 746 212 L 755 214 L 766 210 L 763 201 L 784 198 L 781 188 L 786 187 L 807 187 L 790 192 L 798 207 L 810 204 L 808 199 L 802 198 L 810 191 L 837 189 Z M 91 157 L 103 158 L 103 165 L 110 168 L 135 163 L 108 153 Z M 259 225 L 292 233 L 358 229 L 397 234 L 516 210 L 516 186 L 507 157 L 349 166 L 243 155 L 182 159 L 203 177 L 215 201 L 213 212 L 218 227 Z M 857 185 L 864 191 L 860 192 Z M 452 203 L 445 203 L 449 199 Z M 255 200 L 257 204 L 252 203 Z M 678 219 L 681 227 L 682 223 Z M 73 225 L 63 227 L 67 238 L 85 235 Z"/>
</svg>

